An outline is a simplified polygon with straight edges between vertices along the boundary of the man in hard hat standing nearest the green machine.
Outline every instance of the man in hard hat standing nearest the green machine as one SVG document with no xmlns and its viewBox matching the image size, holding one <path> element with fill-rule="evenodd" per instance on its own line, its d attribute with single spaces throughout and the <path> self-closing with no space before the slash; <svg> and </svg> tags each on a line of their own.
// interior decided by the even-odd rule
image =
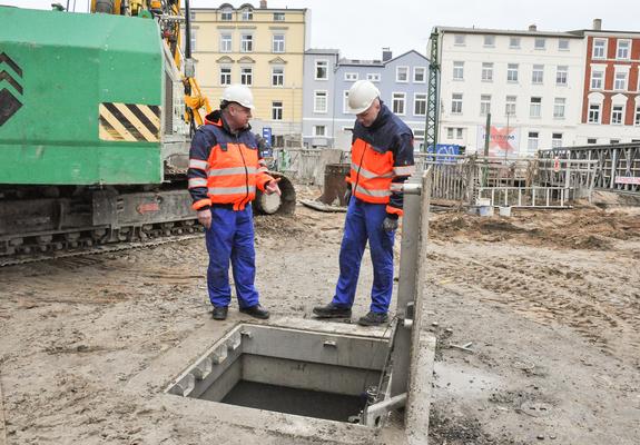
<svg viewBox="0 0 640 445">
<path fill-rule="evenodd" d="M 256 187 L 280 194 L 277 180 L 267 174 L 249 119 L 252 91 L 232 85 L 223 93 L 220 109 L 209 113 L 196 131 L 189 152 L 189 192 L 198 221 L 206 228 L 209 253 L 207 288 L 213 318 L 227 317 L 232 298 L 229 260 L 239 310 L 268 318 L 254 286 L 256 276 L 252 200 Z"/>
</svg>

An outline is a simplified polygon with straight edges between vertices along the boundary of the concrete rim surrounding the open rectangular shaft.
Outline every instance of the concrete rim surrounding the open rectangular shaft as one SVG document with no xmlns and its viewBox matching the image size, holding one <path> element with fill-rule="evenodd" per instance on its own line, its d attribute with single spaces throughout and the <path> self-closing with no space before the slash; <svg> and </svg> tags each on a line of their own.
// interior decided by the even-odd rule
<svg viewBox="0 0 640 445">
<path fill-rule="evenodd" d="M 415 392 L 415 396 L 411 398 L 411 405 L 407 409 L 407 414 L 411 415 L 407 416 L 408 428 L 406 429 L 397 415 L 393 416 L 384 426 L 375 428 L 165 394 L 164 390 L 167 386 L 187 366 L 195 364 L 205 350 L 239 323 L 376 338 L 388 338 L 391 334 L 386 327 L 372 328 L 288 317 L 274 317 L 266 323 L 256 323 L 244 316 L 232 315 L 229 319 L 221 323 L 214 320 L 207 323 L 179 345 L 149 364 L 144 372 L 131 378 L 122 390 L 131 397 L 141 397 L 152 405 L 161 406 L 173 417 L 197 418 L 199 422 L 211 425 L 229 424 L 245 432 L 248 428 L 256 439 L 276 436 L 278 444 L 282 445 L 298 445 L 307 441 L 327 444 L 426 444 L 431 375 L 433 374 L 433 352 L 435 349 L 435 339 L 431 334 L 421 335 L 420 348 L 425 350 L 420 355 L 415 370 L 417 377 L 412 389 Z M 229 432 L 232 431 L 233 428 L 229 429 Z M 220 431 L 220 441 L 224 443 L 224 432 Z"/>
</svg>

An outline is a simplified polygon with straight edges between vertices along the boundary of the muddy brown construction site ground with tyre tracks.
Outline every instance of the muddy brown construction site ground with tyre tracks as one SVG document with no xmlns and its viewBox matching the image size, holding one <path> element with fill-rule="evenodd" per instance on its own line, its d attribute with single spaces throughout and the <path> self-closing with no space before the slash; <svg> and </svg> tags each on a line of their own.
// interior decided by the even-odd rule
<svg viewBox="0 0 640 445">
<path fill-rule="evenodd" d="M 317 196 L 298 187 L 298 198 Z M 301 206 L 256 217 L 257 286 L 273 319 L 309 318 L 331 300 L 343 222 Z M 429 260 L 430 445 L 640 443 L 638 207 L 436 212 Z M 191 239 L 0 269 L 0 444 L 2 433 L 8 444 L 332 443 L 201 422 L 126 390 L 216 323 L 206 264 L 204 239 Z M 371 281 L 365 253 L 354 319 Z M 230 317 L 248 319 L 236 301 Z"/>
</svg>

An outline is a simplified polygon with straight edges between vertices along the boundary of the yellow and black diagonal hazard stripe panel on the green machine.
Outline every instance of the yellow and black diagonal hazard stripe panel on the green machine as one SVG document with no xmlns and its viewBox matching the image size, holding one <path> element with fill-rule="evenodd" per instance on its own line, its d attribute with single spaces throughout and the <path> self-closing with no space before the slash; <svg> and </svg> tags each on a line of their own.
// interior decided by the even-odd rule
<svg viewBox="0 0 640 445">
<path fill-rule="evenodd" d="M 100 139 L 128 142 L 160 140 L 160 107 L 119 102 L 100 103 Z"/>
</svg>

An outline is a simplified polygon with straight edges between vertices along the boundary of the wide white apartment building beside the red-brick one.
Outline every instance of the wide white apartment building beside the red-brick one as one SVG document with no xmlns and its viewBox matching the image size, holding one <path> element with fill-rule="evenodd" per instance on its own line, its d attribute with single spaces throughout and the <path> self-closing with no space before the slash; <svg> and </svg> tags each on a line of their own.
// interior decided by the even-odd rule
<svg viewBox="0 0 640 445">
<path fill-rule="evenodd" d="M 442 144 L 530 156 L 578 139 L 583 39 L 569 32 L 436 27 Z"/>
</svg>

